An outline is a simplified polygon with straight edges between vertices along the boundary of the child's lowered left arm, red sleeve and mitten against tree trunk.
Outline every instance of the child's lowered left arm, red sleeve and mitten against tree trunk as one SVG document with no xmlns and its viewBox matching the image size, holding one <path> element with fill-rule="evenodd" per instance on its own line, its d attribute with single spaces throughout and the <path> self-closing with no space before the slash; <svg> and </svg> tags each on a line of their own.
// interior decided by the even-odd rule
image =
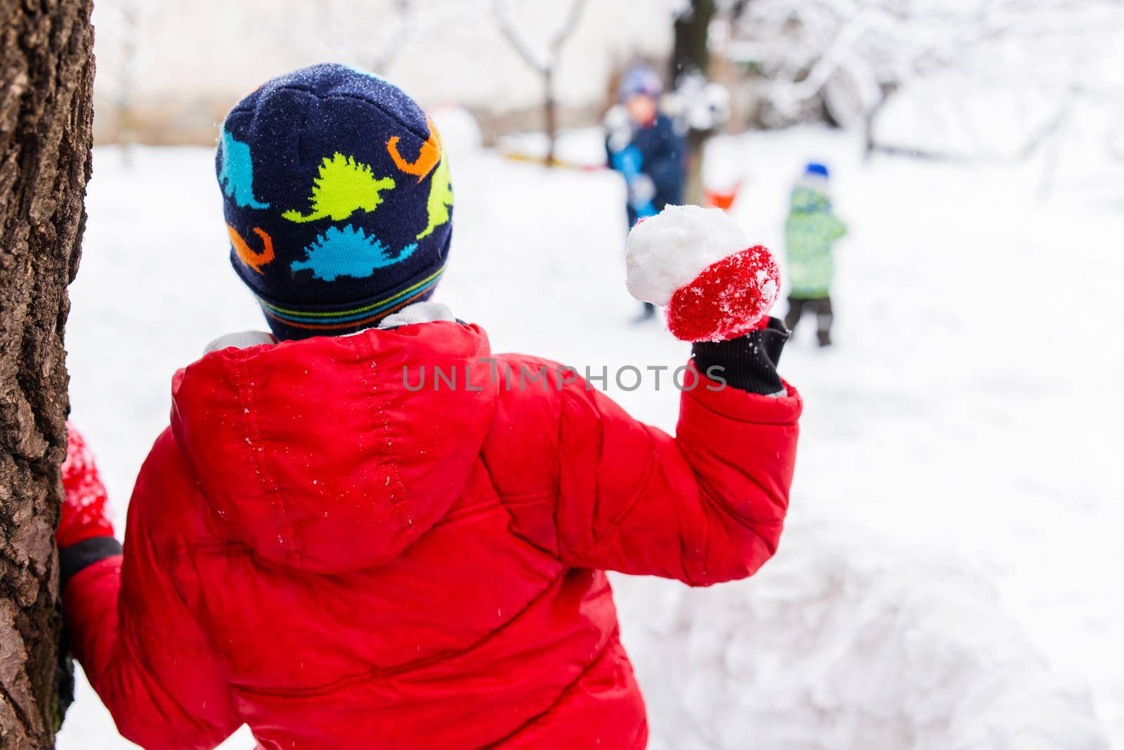
<svg viewBox="0 0 1124 750">
<path fill-rule="evenodd" d="M 105 487 L 71 428 L 56 535 L 70 647 L 121 735 L 144 748 L 210 749 L 242 723 L 210 644 L 166 576 L 148 510 L 191 491 L 157 440 L 129 505 L 125 554 L 105 518 Z M 173 448 L 174 452 L 174 448 Z M 166 552 L 166 551 L 165 551 Z"/>
</svg>

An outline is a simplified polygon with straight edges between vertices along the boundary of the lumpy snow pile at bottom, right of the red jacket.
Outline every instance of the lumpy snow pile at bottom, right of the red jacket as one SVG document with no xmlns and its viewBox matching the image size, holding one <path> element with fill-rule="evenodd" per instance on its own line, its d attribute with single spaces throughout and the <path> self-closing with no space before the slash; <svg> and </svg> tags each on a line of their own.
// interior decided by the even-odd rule
<svg viewBox="0 0 1124 750">
<path fill-rule="evenodd" d="M 904 548 L 795 524 L 749 581 L 618 581 L 652 750 L 1108 747 L 990 586 Z"/>
</svg>

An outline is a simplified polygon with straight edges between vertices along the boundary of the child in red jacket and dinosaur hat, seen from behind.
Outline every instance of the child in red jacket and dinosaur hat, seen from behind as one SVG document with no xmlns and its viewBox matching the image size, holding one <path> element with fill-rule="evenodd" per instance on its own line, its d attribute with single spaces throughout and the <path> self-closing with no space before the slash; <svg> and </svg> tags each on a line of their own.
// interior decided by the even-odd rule
<svg viewBox="0 0 1124 750">
<path fill-rule="evenodd" d="M 787 332 L 697 345 L 674 437 L 551 362 L 491 354 L 424 302 L 452 218 L 437 133 L 351 69 L 252 93 L 216 169 L 273 336 L 175 374 L 124 554 L 76 435 L 65 471 L 66 623 L 120 732 L 643 748 L 602 571 L 707 586 L 776 551 L 800 412 L 774 369 Z M 700 374 L 716 365 L 728 387 Z"/>
</svg>

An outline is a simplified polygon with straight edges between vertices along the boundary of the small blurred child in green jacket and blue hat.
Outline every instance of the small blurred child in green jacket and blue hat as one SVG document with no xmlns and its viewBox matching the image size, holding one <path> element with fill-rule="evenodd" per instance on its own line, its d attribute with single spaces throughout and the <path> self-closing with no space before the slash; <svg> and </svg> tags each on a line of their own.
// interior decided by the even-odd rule
<svg viewBox="0 0 1124 750">
<path fill-rule="evenodd" d="M 791 208 L 785 224 L 788 256 L 788 315 L 785 325 L 796 328 L 805 310 L 816 314 L 821 346 L 832 343 L 832 247 L 846 234 L 846 225 L 832 213 L 827 168 L 810 163 L 792 188 Z"/>
</svg>

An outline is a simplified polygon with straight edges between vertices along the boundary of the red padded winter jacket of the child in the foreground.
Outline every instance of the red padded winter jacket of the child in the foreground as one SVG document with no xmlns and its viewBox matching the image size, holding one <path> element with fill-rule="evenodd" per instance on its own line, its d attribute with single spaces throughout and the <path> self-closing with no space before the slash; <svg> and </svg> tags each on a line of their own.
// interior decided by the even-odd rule
<svg viewBox="0 0 1124 750">
<path fill-rule="evenodd" d="M 520 388 L 520 368 L 552 363 L 489 356 L 480 328 L 438 322 L 176 374 L 124 559 L 65 591 L 125 737 L 211 748 L 246 723 L 269 750 L 644 747 L 601 571 L 755 571 L 799 397 L 699 386 L 671 437 L 580 380 Z M 455 389 L 434 390 L 434 365 Z M 425 367 L 424 389 L 404 367 L 411 388 Z"/>
</svg>

